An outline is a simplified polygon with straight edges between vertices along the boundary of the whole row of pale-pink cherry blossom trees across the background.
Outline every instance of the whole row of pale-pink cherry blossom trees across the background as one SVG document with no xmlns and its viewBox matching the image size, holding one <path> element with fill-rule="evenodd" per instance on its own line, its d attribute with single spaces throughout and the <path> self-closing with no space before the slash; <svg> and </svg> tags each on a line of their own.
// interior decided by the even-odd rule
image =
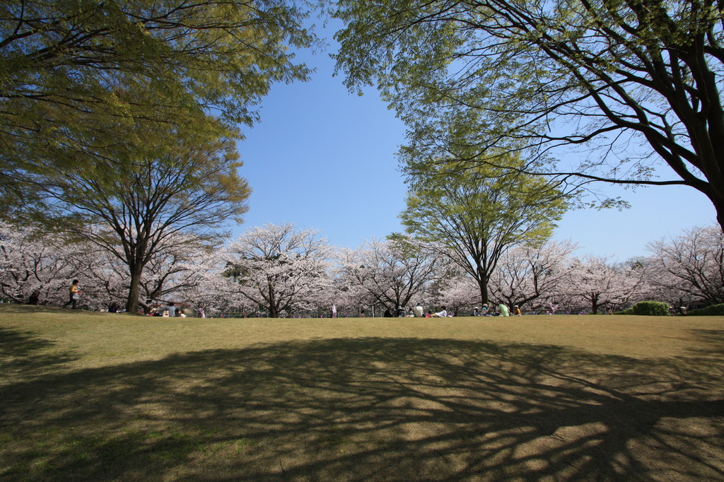
<svg viewBox="0 0 724 482">
<path fill-rule="evenodd" d="M 185 239 L 182 239 L 185 238 Z M 489 299 L 524 311 L 599 313 L 639 300 L 673 306 L 724 303 L 724 236 L 718 227 L 691 229 L 652 242 L 652 253 L 626 263 L 573 255 L 572 242 L 516 246 L 501 256 Z M 71 279 L 81 304 L 123 303 L 127 266 L 107 250 L 38 229 L 0 225 L 0 297 L 13 303 L 62 305 Z M 439 247 L 400 235 L 333 248 L 318 231 L 292 224 L 248 229 L 219 245 L 176 234 L 143 271 L 138 303 L 179 303 L 204 313 L 295 316 L 422 303 L 468 313 L 481 301 L 478 283 Z M 367 311 L 371 314 L 371 311 Z"/>
</svg>

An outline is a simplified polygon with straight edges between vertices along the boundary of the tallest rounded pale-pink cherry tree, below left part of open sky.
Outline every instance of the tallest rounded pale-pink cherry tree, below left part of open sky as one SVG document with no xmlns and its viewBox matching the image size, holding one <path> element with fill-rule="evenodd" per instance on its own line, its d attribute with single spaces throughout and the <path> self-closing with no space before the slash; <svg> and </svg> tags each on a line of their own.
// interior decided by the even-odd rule
<svg viewBox="0 0 724 482">
<path fill-rule="evenodd" d="M 309 308 L 329 286 L 331 249 L 319 231 L 293 224 L 253 227 L 230 243 L 227 274 L 238 295 L 278 318 Z"/>
</svg>

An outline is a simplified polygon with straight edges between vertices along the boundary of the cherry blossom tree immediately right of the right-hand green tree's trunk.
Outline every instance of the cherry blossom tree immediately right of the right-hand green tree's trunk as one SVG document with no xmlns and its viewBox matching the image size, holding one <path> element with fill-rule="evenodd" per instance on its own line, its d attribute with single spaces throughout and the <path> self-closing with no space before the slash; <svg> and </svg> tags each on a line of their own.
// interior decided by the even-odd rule
<svg viewBox="0 0 724 482">
<path fill-rule="evenodd" d="M 571 241 L 550 241 L 539 247 L 508 250 L 490 279 L 493 299 L 503 300 L 508 306 L 545 305 L 556 297 L 568 278 L 570 255 L 577 247 Z"/>
</svg>

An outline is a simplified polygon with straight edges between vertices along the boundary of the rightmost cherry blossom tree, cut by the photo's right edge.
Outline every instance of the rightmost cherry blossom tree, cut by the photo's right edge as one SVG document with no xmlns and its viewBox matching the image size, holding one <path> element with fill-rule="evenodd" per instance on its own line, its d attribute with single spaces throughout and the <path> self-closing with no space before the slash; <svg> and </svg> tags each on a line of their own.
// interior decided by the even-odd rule
<svg viewBox="0 0 724 482">
<path fill-rule="evenodd" d="M 724 233 L 718 226 L 694 228 L 648 246 L 654 286 L 715 305 L 724 303 Z"/>
</svg>

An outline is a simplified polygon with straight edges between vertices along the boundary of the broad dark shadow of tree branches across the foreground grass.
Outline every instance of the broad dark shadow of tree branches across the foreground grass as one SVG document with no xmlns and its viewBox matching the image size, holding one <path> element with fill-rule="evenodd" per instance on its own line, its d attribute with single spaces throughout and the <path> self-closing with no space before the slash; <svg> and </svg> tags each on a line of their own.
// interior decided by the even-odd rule
<svg viewBox="0 0 724 482">
<path fill-rule="evenodd" d="M 695 358 L 547 345 L 208 350 L 0 388 L 0 478 L 724 480 L 723 391 Z"/>
</svg>

